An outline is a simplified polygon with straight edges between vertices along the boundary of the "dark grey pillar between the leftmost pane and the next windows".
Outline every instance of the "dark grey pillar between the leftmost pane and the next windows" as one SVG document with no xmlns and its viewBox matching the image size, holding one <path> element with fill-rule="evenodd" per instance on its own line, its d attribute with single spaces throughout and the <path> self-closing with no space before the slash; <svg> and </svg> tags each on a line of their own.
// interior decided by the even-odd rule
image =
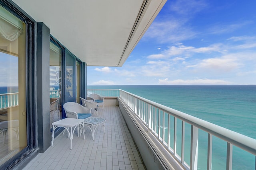
<svg viewBox="0 0 256 170">
<path fill-rule="evenodd" d="M 42 22 L 37 23 L 37 115 L 38 147 L 44 152 L 50 147 L 50 29 Z"/>
</svg>

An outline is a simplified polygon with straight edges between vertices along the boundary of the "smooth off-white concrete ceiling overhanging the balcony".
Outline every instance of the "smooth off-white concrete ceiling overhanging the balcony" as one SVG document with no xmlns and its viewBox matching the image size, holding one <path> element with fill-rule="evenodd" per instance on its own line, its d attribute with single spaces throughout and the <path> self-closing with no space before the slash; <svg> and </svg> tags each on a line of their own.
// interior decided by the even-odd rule
<svg viewBox="0 0 256 170">
<path fill-rule="evenodd" d="M 13 0 L 88 66 L 122 66 L 166 0 Z"/>
</svg>

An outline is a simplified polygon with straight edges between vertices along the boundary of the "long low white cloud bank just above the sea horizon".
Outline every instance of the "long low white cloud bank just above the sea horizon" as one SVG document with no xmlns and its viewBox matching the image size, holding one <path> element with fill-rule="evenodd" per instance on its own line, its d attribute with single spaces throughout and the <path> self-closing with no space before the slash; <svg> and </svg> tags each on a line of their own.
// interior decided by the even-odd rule
<svg viewBox="0 0 256 170">
<path fill-rule="evenodd" d="M 200 84 L 230 84 L 230 82 L 225 80 L 216 80 L 216 79 L 194 79 L 194 80 L 168 80 L 168 78 L 165 79 L 159 79 L 158 84 L 161 85 L 200 85 Z"/>
</svg>

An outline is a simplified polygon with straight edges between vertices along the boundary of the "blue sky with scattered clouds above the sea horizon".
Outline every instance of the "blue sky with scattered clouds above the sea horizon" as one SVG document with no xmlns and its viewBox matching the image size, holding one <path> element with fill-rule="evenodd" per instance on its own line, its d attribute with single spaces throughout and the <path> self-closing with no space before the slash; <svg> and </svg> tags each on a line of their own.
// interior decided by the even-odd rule
<svg viewBox="0 0 256 170">
<path fill-rule="evenodd" d="M 122 67 L 88 85 L 256 84 L 256 0 L 168 0 Z"/>
</svg>

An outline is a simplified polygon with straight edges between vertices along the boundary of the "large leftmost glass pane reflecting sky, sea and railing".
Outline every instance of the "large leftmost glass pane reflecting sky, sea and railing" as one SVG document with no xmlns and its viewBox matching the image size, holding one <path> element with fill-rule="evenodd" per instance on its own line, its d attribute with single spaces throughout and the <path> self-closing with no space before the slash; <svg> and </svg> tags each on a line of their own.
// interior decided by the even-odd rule
<svg viewBox="0 0 256 170">
<path fill-rule="evenodd" d="M 25 30 L 0 6 L 0 165 L 27 146 Z"/>
</svg>

